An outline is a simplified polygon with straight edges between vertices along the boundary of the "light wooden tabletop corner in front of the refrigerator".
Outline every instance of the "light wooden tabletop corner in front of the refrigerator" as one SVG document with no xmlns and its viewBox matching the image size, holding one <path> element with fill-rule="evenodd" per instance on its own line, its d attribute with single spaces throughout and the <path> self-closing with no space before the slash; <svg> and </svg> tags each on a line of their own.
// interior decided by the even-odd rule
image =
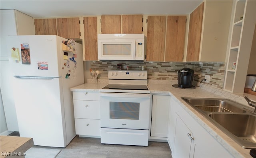
<svg viewBox="0 0 256 158">
<path fill-rule="evenodd" d="M 19 157 L 24 157 L 22 154 L 34 145 L 33 138 L 16 137 L 16 136 L 0 136 L 1 158 L 17 157 L 14 155 L 20 154 Z"/>
</svg>

